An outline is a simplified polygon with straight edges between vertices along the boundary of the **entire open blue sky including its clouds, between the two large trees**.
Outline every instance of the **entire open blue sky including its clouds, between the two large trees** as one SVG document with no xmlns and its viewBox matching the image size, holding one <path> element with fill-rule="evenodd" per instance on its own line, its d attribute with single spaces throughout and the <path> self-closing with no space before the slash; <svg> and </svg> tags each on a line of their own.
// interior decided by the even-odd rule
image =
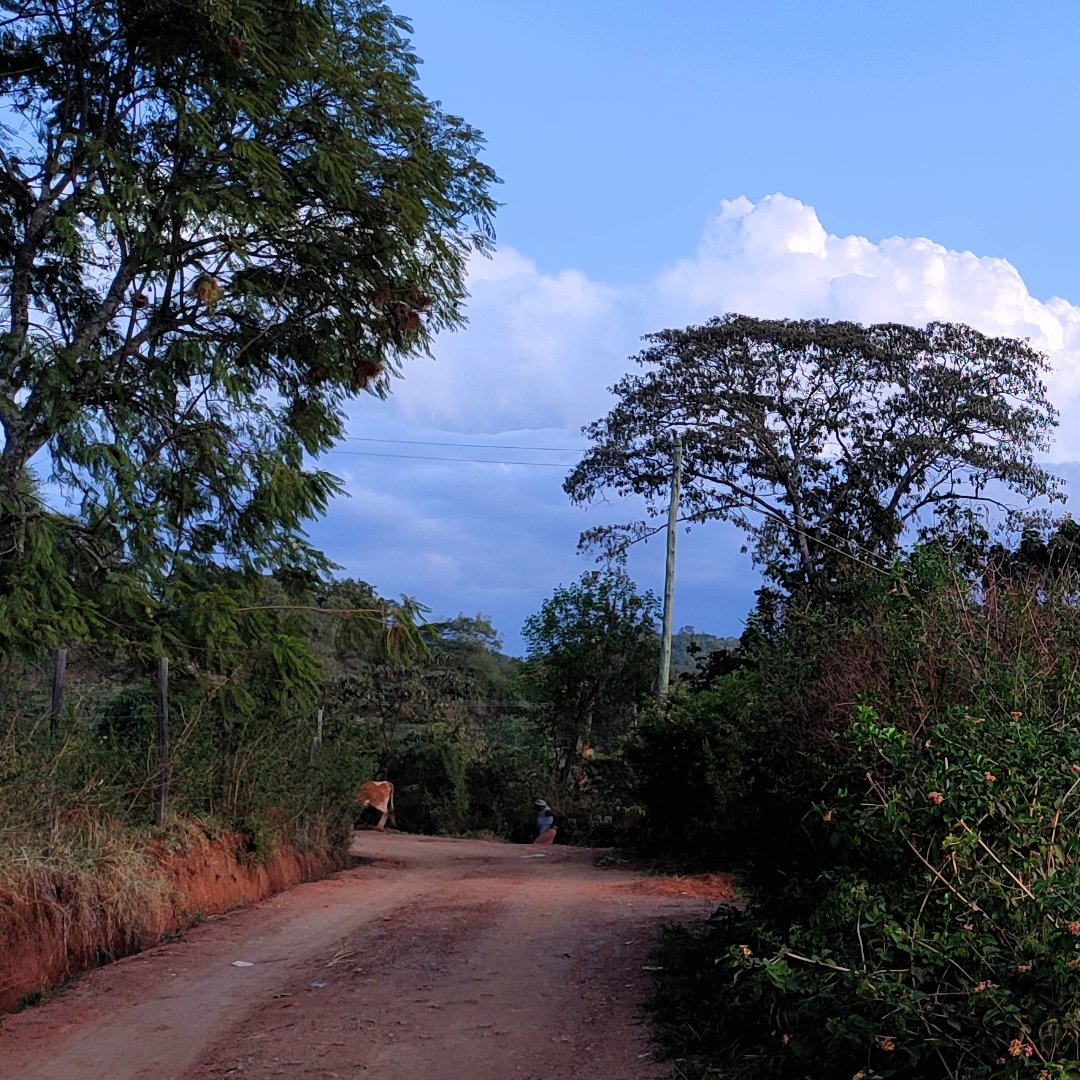
<svg viewBox="0 0 1080 1080">
<path fill-rule="evenodd" d="M 469 325 L 364 397 L 311 536 L 430 618 L 525 619 L 636 508 L 562 485 L 642 336 L 727 311 L 967 322 L 1051 359 L 1080 480 L 1080 4 L 391 0 L 421 87 L 484 132 L 497 249 Z M 739 634 L 742 537 L 680 534 L 674 624 Z M 662 591 L 661 538 L 632 551 Z"/>
</svg>

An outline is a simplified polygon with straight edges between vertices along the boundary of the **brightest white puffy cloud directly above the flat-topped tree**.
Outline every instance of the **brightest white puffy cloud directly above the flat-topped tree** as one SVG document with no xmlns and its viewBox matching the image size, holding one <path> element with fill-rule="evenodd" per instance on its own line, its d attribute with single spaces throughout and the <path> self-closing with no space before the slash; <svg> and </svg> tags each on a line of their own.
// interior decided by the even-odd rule
<svg viewBox="0 0 1080 1080">
<path fill-rule="evenodd" d="M 725 201 L 692 258 L 654 282 L 651 311 L 664 325 L 724 311 L 766 318 L 855 322 L 968 323 L 984 334 L 1027 338 L 1052 363 L 1051 400 L 1062 410 L 1056 456 L 1080 437 L 1080 308 L 1031 296 L 1009 261 L 950 251 L 923 237 L 828 233 L 811 206 L 783 194 Z"/>
</svg>

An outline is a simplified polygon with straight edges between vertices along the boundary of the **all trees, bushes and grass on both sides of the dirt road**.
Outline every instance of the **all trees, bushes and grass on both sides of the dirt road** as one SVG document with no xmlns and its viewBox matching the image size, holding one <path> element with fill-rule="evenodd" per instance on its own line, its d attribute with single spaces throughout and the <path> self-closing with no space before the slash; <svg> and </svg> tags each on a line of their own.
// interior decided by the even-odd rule
<svg viewBox="0 0 1080 1080">
<path fill-rule="evenodd" d="M 684 1075 L 1080 1078 L 1080 527 L 1039 463 L 1045 357 L 946 323 L 651 335 L 565 482 L 645 517 L 582 538 L 604 569 L 507 657 L 305 534 L 343 404 L 462 322 L 492 242 L 483 140 L 419 92 L 407 24 L 0 8 L 0 941 L 35 908 L 136 947 L 149 851 L 342 852 L 373 777 L 428 833 L 528 840 L 541 796 L 561 842 L 739 870 L 744 905 L 658 953 Z M 658 701 L 621 558 L 676 441 L 681 523 L 741 528 L 762 588 L 738 642 L 676 635 Z"/>
</svg>

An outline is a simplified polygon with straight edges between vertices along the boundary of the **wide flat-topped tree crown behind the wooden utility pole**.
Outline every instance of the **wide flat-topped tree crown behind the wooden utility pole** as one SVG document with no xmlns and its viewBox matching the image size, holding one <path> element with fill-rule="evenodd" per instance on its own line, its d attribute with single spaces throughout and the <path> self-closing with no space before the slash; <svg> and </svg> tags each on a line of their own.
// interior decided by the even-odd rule
<svg viewBox="0 0 1080 1080">
<path fill-rule="evenodd" d="M 1057 495 L 1036 461 L 1056 423 L 1047 360 L 1026 341 L 737 314 L 646 340 L 644 374 L 617 382 L 611 411 L 585 427 L 594 445 L 567 492 L 644 497 L 664 514 L 677 436 L 681 519 L 734 522 L 778 581 L 888 557 L 935 510 Z M 618 551 L 659 527 L 600 526 L 582 543 Z"/>
</svg>

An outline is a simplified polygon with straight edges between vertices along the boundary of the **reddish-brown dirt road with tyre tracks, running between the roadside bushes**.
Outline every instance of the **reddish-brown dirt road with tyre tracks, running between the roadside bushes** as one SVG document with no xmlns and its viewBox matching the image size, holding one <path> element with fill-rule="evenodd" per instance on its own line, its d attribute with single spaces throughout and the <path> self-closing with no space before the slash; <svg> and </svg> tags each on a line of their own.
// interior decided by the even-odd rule
<svg viewBox="0 0 1080 1080">
<path fill-rule="evenodd" d="M 658 923 L 713 910 L 723 882 L 598 869 L 557 846 L 366 832 L 352 850 L 351 870 L 4 1017 L 0 1077 L 671 1075 L 640 1011 L 649 947 Z"/>
</svg>

